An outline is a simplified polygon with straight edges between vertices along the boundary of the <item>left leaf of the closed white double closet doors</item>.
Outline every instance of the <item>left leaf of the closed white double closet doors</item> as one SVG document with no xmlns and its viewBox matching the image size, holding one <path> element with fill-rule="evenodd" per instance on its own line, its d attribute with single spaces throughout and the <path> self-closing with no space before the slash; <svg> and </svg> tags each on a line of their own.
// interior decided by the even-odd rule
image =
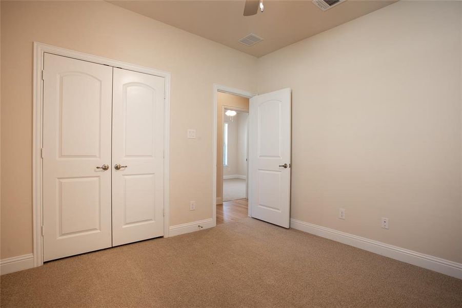
<svg viewBox="0 0 462 308">
<path fill-rule="evenodd" d="M 111 246 L 111 97 L 112 67 L 45 54 L 45 261 Z"/>
</svg>

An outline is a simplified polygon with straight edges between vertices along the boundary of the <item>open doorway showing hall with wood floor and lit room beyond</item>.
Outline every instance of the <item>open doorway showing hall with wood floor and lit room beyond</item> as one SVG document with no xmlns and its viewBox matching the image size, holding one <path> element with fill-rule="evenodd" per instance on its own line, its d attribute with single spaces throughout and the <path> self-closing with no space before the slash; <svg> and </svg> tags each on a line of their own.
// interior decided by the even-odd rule
<svg viewBox="0 0 462 308">
<path fill-rule="evenodd" d="M 248 209 L 248 125 L 252 93 L 215 86 L 216 155 L 213 218 L 216 224 L 250 216 Z"/>
</svg>

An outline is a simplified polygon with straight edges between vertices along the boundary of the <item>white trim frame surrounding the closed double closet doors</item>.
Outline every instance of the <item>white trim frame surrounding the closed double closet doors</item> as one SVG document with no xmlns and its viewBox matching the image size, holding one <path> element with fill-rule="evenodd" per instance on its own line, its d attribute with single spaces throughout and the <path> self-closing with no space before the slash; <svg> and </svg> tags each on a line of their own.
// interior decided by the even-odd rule
<svg viewBox="0 0 462 308">
<path fill-rule="evenodd" d="M 144 66 L 107 59 L 105 57 L 55 47 L 43 43 L 34 42 L 34 84 L 33 84 L 33 147 L 32 147 L 32 205 L 33 205 L 33 255 L 34 266 L 43 264 L 43 240 L 42 240 L 42 129 L 43 129 L 43 83 L 42 71 L 44 69 L 44 53 L 52 53 L 71 57 L 77 60 L 108 65 L 156 75 L 165 78 L 165 109 L 164 109 L 164 237 L 169 236 L 170 227 L 170 73 Z"/>
</svg>

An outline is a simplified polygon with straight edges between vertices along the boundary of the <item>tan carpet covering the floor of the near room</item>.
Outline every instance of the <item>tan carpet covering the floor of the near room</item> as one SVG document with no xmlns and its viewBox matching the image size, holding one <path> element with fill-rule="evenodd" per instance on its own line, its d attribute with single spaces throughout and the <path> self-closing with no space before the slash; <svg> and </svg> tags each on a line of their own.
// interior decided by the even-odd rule
<svg viewBox="0 0 462 308">
<path fill-rule="evenodd" d="M 2 307 L 462 307 L 462 280 L 252 218 L 1 277 Z"/>
</svg>

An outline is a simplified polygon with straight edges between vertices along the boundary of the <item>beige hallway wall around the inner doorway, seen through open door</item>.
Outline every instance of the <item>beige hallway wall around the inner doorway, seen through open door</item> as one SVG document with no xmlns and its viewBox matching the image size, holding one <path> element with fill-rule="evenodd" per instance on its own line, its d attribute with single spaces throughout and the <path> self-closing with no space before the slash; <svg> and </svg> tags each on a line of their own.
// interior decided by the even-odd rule
<svg viewBox="0 0 462 308">
<path fill-rule="evenodd" d="M 220 203 L 223 196 L 223 110 L 226 106 L 249 111 L 249 99 L 218 92 L 216 104 L 216 198 Z"/>
</svg>

